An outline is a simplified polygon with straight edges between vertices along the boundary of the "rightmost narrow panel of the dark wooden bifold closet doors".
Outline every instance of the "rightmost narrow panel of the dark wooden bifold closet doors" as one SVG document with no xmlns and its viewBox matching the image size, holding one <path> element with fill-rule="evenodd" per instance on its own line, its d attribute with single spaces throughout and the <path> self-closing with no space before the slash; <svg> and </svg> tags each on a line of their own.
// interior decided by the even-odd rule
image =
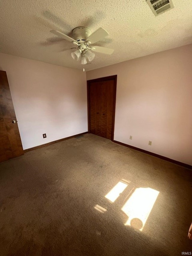
<svg viewBox="0 0 192 256">
<path fill-rule="evenodd" d="M 107 139 L 112 138 L 113 113 L 114 113 L 114 80 L 107 80 Z"/>
</svg>

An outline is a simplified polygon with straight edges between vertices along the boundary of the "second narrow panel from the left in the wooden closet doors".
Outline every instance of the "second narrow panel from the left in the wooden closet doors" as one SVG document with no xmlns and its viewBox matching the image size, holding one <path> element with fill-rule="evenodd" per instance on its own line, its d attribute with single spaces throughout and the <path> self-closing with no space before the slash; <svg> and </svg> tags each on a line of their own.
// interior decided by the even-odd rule
<svg viewBox="0 0 192 256">
<path fill-rule="evenodd" d="M 95 134 L 101 136 L 101 83 L 95 83 Z"/>
</svg>

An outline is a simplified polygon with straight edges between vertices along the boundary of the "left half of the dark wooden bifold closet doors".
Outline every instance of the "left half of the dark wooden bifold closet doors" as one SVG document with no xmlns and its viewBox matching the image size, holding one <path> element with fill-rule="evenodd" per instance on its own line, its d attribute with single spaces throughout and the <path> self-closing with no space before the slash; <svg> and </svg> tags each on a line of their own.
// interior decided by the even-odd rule
<svg viewBox="0 0 192 256">
<path fill-rule="evenodd" d="M 89 86 L 90 132 L 101 136 L 101 83 Z"/>
</svg>

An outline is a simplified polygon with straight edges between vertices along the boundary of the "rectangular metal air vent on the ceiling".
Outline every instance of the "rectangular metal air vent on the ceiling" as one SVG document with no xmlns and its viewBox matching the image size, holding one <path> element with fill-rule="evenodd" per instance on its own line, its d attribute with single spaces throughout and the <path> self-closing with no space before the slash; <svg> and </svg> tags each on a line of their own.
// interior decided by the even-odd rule
<svg viewBox="0 0 192 256">
<path fill-rule="evenodd" d="M 162 14 L 174 7 L 172 0 L 146 0 L 146 2 L 155 16 L 158 16 L 159 14 Z"/>
</svg>

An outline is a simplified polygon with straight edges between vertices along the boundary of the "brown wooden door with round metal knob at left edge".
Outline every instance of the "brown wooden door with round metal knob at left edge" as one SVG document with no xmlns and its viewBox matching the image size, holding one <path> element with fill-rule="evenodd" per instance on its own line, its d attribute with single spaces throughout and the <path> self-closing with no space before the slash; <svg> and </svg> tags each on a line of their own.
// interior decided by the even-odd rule
<svg viewBox="0 0 192 256">
<path fill-rule="evenodd" d="M 7 75 L 0 71 L 0 162 L 23 154 Z"/>
</svg>

